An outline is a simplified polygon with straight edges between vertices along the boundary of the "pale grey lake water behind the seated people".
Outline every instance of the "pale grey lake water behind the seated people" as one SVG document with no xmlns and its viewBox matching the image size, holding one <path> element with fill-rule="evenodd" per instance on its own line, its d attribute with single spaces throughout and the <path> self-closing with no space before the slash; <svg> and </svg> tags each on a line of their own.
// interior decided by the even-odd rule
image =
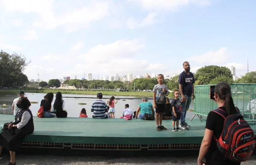
<svg viewBox="0 0 256 165">
<path fill-rule="evenodd" d="M 37 101 L 37 104 L 31 104 L 29 108 L 32 111 L 33 116 L 36 116 L 38 109 L 40 108 L 41 100 L 44 98 L 46 93 L 26 93 L 26 97 L 28 97 L 29 101 Z M 96 96 L 92 95 L 73 95 L 73 94 L 63 94 L 63 97 L 93 97 L 93 98 L 63 98 L 65 100 L 65 109 L 67 110 L 68 117 L 79 117 L 82 108 L 86 109 L 87 116 L 92 117 L 93 113 L 90 111 L 90 107 L 93 101 L 96 100 Z M 0 114 L 13 114 L 12 111 L 12 101 L 17 98 L 17 95 L 0 95 L 0 105 L 6 104 L 9 107 L 2 108 L 0 107 Z M 103 96 L 104 97 L 104 96 Z M 110 97 L 110 96 L 106 96 Z M 115 117 L 120 118 L 122 116 L 122 110 L 125 107 L 125 104 L 129 104 L 130 108 L 133 111 L 137 110 L 138 105 L 142 102 L 141 99 L 128 99 L 128 98 L 137 98 L 133 96 L 115 96 L 115 98 L 127 98 L 125 101 L 123 99 L 118 100 L 115 105 Z M 53 98 L 53 103 L 55 100 L 55 95 Z M 108 101 L 109 99 L 103 99 L 104 101 Z M 148 100 L 153 103 L 153 100 Z M 78 103 L 87 103 L 86 105 L 79 105 Z M 189 109 L 194 109 L 194 101 L 190 104 Z M 190 114 L 190 113 L 189 113 Z M 191 115 L 189 115 L 191 116 Z M 189 117 L 188 116 L 188 117 Z"/>
</svg>

